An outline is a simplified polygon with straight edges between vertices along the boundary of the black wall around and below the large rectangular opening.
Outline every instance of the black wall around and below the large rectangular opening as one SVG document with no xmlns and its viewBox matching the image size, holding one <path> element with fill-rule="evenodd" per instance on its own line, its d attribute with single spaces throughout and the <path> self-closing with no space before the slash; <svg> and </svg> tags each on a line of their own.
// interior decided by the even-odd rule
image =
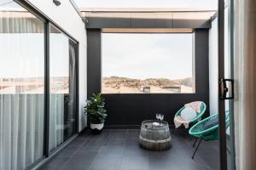
<svg viewBox="0 0 256 170">
<path fill-rule="evenodd" d="M 87 29 L 88 35 L 88 95 L 101 92 L 101 31 Z M 165 115 L 173 124 L 173 116 L 184 104 L 195 100 L 207 104 L 209 115 L 208 30 L 196 29 L 195 94 L 103 94 L 106 99 L 108 120 L 106 125 L 133 126 L 143 120 L 153 119 L 155 113 Z M 184 61 L 185 62 L 185 61 Z"/>
</svg>

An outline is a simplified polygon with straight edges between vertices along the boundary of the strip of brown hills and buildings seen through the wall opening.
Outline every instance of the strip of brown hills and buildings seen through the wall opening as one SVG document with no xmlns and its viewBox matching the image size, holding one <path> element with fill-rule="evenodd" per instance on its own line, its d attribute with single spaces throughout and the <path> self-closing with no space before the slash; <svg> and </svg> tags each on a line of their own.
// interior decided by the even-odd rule
<svg viewBox="0 0 256 170">
<path fill-rule="evenodd" d="M 191 94 L 192 78 L 169 80 L 166 78 L 132 79 L 102 77 L 102 94 Z"/>
</svg>

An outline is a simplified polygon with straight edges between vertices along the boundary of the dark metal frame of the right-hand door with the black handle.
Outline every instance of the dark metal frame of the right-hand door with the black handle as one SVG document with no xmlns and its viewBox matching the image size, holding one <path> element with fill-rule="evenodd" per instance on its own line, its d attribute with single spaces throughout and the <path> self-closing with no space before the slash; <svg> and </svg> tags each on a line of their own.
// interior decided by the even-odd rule
<svg viewBox="0 0 256 170">
<path fill-rule="evenodd" d="M 224 39 L 224 11 L 228 6 L 228 40 Z M 224 41 L 229 41 L 230 58 L 230 78 L 234 78 L 234 0 L 218 0 L 218 81 L 224 77 Z M 220 88 L 218 88 L 220 94 Z M 234 95 L 234 94 L 233 94 Z M 234 141 L 234 100 L 229 102 L 230 111 L 230 156 L 232 156 L 230 169 L 236 169 L 235 161 L 235 141 Z M 226 123 L 225 123 L 225 99 L 218 98 L 218 132 L 219 132 L 219 154 L 220 169 L 226 170 L 227 164 L 227 141 L 226 141 Z"/>
</svg>

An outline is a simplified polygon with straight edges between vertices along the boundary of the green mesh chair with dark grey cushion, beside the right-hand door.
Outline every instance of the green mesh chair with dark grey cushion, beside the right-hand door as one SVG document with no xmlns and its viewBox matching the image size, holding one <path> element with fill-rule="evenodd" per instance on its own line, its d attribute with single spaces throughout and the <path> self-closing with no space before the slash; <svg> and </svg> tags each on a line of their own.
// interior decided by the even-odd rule
<svg viewBox="0 0 256 170">
<path fill-rule="evenodd" d="M 196 138 L 195 143 L 193 144 L 193 147 L 195 146 L 197 139 L 200 139 L 199 144 L 197 145 L 194 151 L 192 159 L 194 159 L 195 152 L 198 150 L 202 139 L 204 139 L 205 141 L 218 139 L 218 122 L 214 126 L 209 126 L 208 128 L 206 127 L 207 122 L 212 121 L 212 123 L 214 123 L 215 120 L 218 121 L 218 113 L 207 117 L 201 122 L 197 122 L 193 127 L 189 129 L 189 134 Z M 225 122 L 226 122 L 226 129 L 227 129 L 230 126 L 229 111 L 225 112 Z"/>
</svg>

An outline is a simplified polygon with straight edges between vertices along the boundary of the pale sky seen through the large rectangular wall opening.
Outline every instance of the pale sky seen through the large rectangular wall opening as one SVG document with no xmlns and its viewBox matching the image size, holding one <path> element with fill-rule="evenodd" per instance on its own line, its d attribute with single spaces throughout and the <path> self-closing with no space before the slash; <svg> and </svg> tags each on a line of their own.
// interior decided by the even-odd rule
<svg viewBox="0 0 256 170">
<path fill-rule="evenodd" d="M 102 77 L 192 77 L 192 34 L 102 34 Z"/>
</svg>

